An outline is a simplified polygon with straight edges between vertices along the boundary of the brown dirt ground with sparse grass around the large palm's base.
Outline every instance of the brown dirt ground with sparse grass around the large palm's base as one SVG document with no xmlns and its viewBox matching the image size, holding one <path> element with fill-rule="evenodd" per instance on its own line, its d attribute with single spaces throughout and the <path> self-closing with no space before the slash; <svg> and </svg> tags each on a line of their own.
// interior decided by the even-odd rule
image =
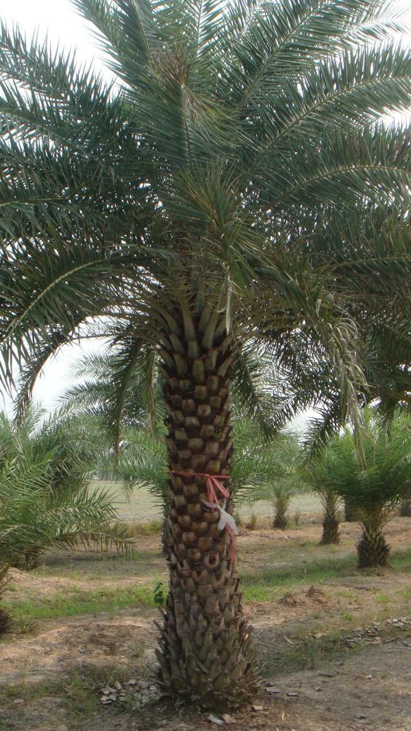
<svg viewBox="0 0 411 731">
<path fill-rule="evenodd" d="M 312 520 L 242 529 L 261 683 L 252 707 L 224 717 L 158 697 L 153 602 L 77 614 L 70 604 L 85 591 L 90 602 L 128 588 L 150 596 L 166 581 L 158 536 L 137 539 L 134 558 L 58 553 L 35 572 L 14 572 L 6 601 L 18 621 L 0 640 L 0 730 L 411 731 L 411 520 L 387 527 L 392 567 L 368 572 L 355 567 L 358 526 L 342 524 L 341 544 L 326 548 Z M 47 615 L 62 597 L 58 611 L 72 616 L 33 618 L 33 607 Z"/>
</svg>

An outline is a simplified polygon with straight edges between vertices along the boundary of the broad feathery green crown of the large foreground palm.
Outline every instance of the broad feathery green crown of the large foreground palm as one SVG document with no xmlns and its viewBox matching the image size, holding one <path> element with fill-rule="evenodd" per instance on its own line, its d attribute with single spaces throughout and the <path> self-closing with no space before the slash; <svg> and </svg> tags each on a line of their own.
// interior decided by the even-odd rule
<svg viewBox="0 0 411 731">
<path fill-rule="evenodd" d="M 100 317 L 121 409 L 175 309 L 209 306 L 285 368 L 328 359 L 350 409 L 358 322 L 408 337 L 409 132 L 378 121 L 410 101 L 401 18 L 382 0 L 75 4 L 110 87 L 1 34 L 3 379 L 25 363 L 29 392 Z"/>
</svg>

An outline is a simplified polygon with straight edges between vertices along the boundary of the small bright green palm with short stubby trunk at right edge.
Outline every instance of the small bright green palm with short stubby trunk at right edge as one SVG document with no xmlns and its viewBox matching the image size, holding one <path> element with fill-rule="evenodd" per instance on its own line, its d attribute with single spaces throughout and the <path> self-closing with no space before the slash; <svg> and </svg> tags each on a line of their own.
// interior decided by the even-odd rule
<svg viewBox="0 0 411 731">
<path fill-rule="evenodd" d="M 411 493 L 410 417 L 397 414 L 387 430 L 367 410 L 362 444 L 363 455 L 358 455 L 349 428 L 334 437 L 318 455 L 315 483 L 355 507 L 363 531 L 358 566 L 385 566 L 390 548 L 383 527 Z"/>
</svg>

